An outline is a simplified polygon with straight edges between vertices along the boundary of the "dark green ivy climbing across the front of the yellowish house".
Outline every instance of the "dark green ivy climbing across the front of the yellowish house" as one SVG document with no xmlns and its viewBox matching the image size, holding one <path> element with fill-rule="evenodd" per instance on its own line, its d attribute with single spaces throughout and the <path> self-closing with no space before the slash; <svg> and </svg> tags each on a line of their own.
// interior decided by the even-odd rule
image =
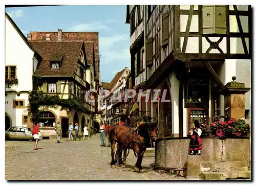
<svg viewBox="0 0 256 185">
<path fill-rule="evenodd" d="M 86 107 L 84 107 L 83 101 L 78 98 L 68 98 L 60 99 L 58 95 L 44 94 L 42 90 L 38 87 L 42 86 L 46 81 L 42 80 L 40 77 L 33 78 L 33 90 L 29 94 L 29 106 L 28 115 L 31 117 L 32 123 L 37 123 L 39 121 L 39 107 L 44 108 L 57 108 L 61 106 L 61 110 L 69 108 L 76 109 L 81 112 L 91 113 Z"/>
</svg>

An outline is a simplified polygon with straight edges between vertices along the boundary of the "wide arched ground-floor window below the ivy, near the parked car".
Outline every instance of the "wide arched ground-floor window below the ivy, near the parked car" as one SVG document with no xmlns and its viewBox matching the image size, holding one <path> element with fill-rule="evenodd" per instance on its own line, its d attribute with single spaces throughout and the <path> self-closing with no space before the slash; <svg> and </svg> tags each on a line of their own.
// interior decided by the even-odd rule
<svg viewBox="0 0 256 185">
<path fill-rule="evenodd" d="M 56 126 L 56 117 L 50 111 L 41 111 L 39 113 L 39 126 L 41 127 L 54 127 Z"/>
</svg>

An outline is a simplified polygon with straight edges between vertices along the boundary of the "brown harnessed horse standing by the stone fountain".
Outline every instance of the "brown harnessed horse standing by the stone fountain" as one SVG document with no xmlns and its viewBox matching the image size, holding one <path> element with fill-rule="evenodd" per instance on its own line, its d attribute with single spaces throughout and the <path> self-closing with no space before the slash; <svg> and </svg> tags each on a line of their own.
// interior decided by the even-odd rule
<svg viewBox="0 0 256 185">
<path fill-rule="evenodd" d="M 143 154 L 146 151 L 146 145 L 150 143 L 150 141 L 157 140 L 157 126 L 156 124 L 142 124 L 137 129 L 129 128 L 123 125 L 117 125 L 110 131 L 110 142 L 111 142 L 111 168 L 115 168 L 115 163 L 117 162 L 114 159 L 115 156 L 115 144 L 118 143 L 119 153 L 118 155 L 118 163 L 121 167 L 125 168 L 125 165 L 122 161 L 121 152 L 122 149 L 133 149 L 135 153 L 137 153 L 138 159 L 135 164 L 134 170 L 136 172 L 142 172 L 143 168 L 141 167 Z"/>
</svg>

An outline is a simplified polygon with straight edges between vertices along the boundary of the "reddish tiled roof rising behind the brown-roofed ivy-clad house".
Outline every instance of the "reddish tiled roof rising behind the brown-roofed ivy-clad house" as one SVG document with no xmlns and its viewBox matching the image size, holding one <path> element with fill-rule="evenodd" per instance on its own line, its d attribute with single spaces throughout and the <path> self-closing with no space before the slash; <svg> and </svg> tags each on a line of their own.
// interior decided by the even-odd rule
<svg viewBox="0 0 256 185">
<path fill-rule="evenodd" d="M 42 41 L 46 40 L 46 34 L 50 35 L 50 40 L 57 40 L 58 32 L 30 32 L 31 40 Z M 99 68 L 98 68 L 98 58 L 99 58 L 99 32 L 62 32 L 62 40 L 69 41 L 84 41 L 86 43 L 94 43 L 94 59 L 95 59 L 95 79 L 99 79 Z M 90 45 L 88 45 L 90 47 Z"/>
</svg>

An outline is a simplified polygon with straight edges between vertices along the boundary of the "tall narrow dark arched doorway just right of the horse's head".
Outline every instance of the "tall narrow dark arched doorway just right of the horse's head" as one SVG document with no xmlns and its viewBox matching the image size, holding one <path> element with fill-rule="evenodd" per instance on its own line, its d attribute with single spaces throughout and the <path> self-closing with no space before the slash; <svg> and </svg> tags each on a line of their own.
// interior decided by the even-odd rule
<svg viewBox="0 0 256 185">
<path fill-rule="evenodd" d="M 166 91 L 165 97 L 164 90 Z M 161 97 L 162 100 L 170 100 L 169 102 L 160 102 L 159 106 L 159 135 L 161 136 L 172 136 L 172 99 L 170 97 L 169 86 L 166 81 L 163 82 L 161 88 Z"/>
</svg>

